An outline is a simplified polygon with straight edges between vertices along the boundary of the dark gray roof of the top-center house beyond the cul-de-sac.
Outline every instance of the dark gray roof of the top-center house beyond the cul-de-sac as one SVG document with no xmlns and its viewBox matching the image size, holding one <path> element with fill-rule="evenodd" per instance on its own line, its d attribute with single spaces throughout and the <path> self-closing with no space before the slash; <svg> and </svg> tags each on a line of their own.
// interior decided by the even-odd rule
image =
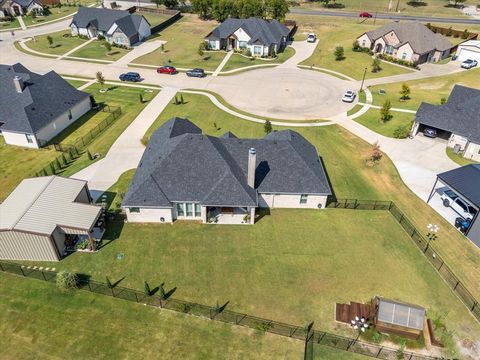
<svg viewBox="0 0 480 360">
<path fill-rule="evenodd" d="M 278 20 L 264 20 L 255 17 L 248 19 L 228 18 L 219 26 L 217 26 L 207 39 L 226 39 L 239 28 L 242 28 L 249 36 L 250 45 L 261 44 L 270 46 L 272 44 L 280 44 L 282 37 L 287 37 L 290 30 Z"/>
</svg>

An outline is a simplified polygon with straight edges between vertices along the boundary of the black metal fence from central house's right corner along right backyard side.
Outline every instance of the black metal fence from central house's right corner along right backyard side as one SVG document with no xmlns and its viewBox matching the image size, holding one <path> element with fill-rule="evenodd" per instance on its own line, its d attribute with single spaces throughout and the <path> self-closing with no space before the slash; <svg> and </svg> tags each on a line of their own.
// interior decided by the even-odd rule
<svg viewBox="0 0 480 360">
<path fill-rule="evenodd" d="M 403 213 L 393 201 L 337 199 L 328 204 L 329 208 L 357 209 L 357 210 L 388 210 L 394 219 L 402 226 L 413 242 L 426 256 L 427 260 L 437 270 L 449 288 L 462 300 L 468 310 L 480 321 L 480 304 L 470 291 L 463 285 L 438 254 L 433 244 L 413 225 L 412 221 Z"/>
</svg>

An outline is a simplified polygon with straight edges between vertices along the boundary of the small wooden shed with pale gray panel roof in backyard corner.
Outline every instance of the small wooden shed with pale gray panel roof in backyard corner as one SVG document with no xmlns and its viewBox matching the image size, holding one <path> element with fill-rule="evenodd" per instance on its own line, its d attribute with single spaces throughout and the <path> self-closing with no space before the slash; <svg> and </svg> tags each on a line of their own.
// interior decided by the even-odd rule
<svg viewBox="0 0 480 360">
<path fill-rule="evenodd" d="M 425 309 L 381 297 L 375 298 L 374 319 L 378 331 L 417 339 L 423 332 Z"/>
</svg>

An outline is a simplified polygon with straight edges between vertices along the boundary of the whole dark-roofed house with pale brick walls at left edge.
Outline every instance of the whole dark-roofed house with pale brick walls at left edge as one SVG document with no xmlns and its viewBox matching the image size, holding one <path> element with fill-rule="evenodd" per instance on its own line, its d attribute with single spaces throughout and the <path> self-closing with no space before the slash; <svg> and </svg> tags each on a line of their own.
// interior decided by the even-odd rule
<svg viewBox="0 0 480 360">
<path fill-rule="evenodd" d="M 92 107 L 89 94 L 54 71 L 0 65 L 0 83 L 0 132 L 10 145 L 39 148 Z"/>
</svg>

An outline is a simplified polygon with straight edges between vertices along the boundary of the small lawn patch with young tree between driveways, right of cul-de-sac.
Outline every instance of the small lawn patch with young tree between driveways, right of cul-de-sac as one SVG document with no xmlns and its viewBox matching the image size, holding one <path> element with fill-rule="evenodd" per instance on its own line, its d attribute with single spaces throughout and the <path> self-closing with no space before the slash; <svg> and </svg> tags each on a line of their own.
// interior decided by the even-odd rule
<svg viewBox="0 0 480 360">
<path fill-rule="evenodd" d="M 392 111 L 391 115 L 392 117 L 390 120 L 382 123 L 380 121 L 380 110 L 369 109 L 365 114 L 354 120 L 381 135 L 395 137 L 393 134 L 395 129 L 399 126 L 407 126 L 410 129 L 412 122 L 415 119 L 415 114 L 411 113 Z"/>
</svg>

